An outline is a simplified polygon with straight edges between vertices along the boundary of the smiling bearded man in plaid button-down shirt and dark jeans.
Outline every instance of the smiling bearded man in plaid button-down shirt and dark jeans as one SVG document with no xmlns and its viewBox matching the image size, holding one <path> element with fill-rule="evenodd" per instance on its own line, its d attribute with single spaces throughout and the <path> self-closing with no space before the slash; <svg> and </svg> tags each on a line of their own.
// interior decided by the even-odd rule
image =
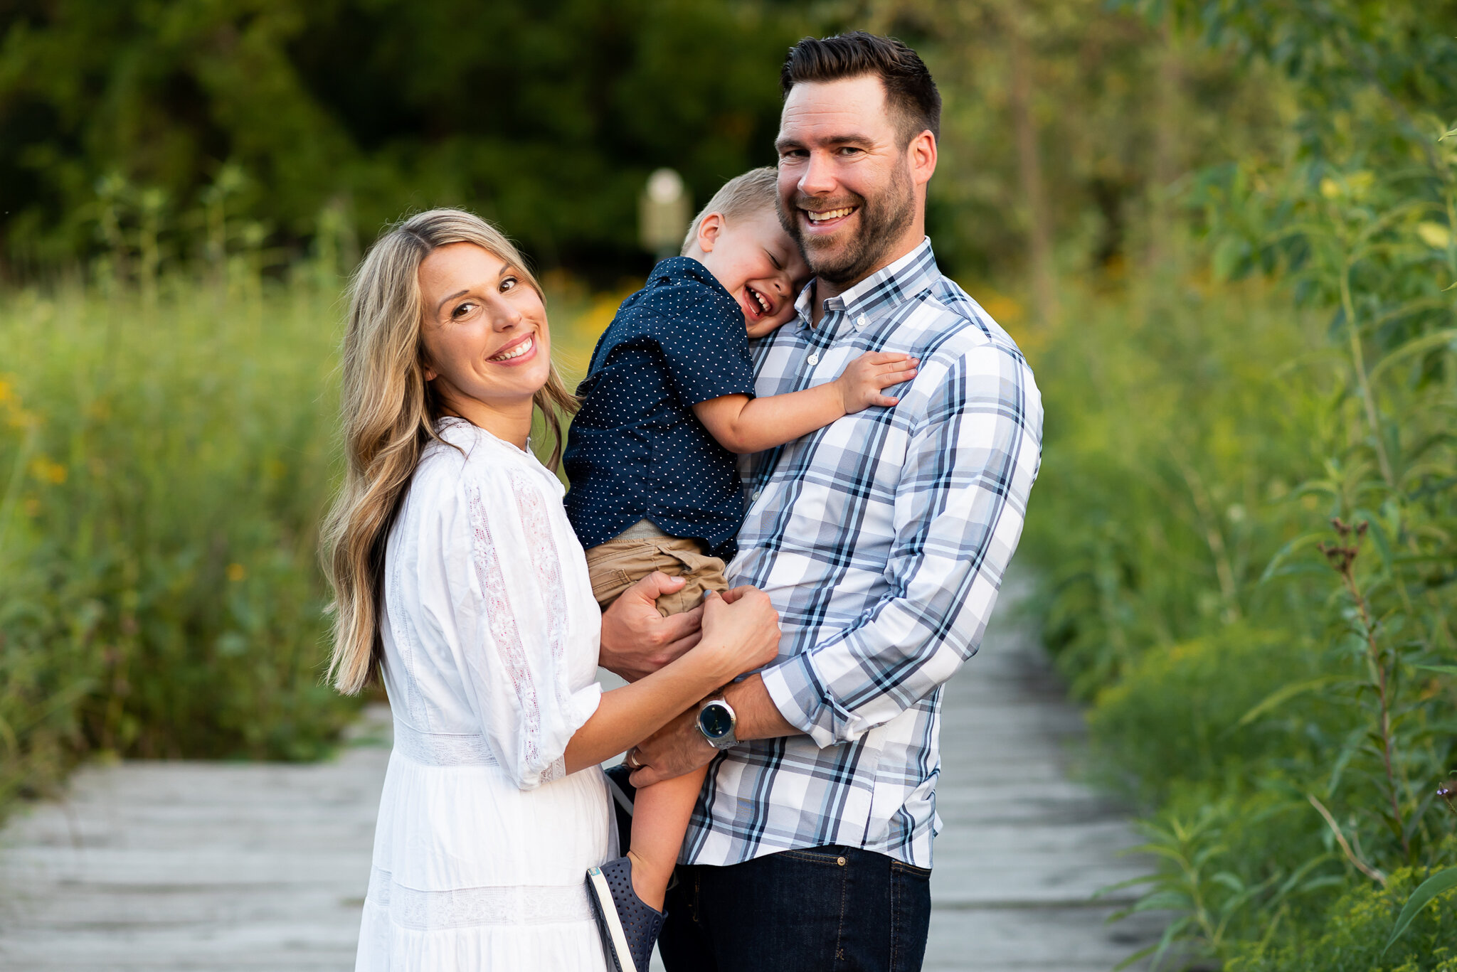
<svg viewBox="0 0 1457 972">
<path fill-rule="evenodd" d="M 918 969 L 930 922 L 941 685 L 981 641 L 1037 474 L 1016 344 L 925 238 L 940 95 L 868 34 L 784 64 L 779 217 L 814 273 L 756 351 L 756 392 L 867 350 L 919 358 L 895 408 L 749 463 L 733 584 L 781 615 L 779 659 L 631 753 L 645 785 L 718 758 L 660 940 L 670 971 Z M 720 755 L 721 753 L 721 755 Z"/>
</svg>

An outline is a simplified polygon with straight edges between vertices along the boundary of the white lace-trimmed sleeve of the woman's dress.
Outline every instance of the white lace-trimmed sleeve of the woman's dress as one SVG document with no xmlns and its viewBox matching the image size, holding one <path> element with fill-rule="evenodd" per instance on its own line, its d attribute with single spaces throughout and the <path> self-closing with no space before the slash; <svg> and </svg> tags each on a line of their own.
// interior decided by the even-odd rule
<svg viewBox="0 0 1457 972">
<path fill-rule="evenodd" d="M 546 514 L 557 498 L 510 463 L 476 462 L 441 503 L 456 663 L 492 755 L 532 790 L 565 775 L 567 743 L 602 688 L 570 685 L 562 557 Z"/>
</svg>

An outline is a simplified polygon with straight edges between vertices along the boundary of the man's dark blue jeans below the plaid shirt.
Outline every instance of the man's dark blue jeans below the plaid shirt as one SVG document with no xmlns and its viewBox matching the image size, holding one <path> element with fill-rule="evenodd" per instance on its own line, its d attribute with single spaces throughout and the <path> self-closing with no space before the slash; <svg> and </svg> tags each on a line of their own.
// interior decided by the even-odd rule
<svg viewBox="0 0 1457 972">
<path fill-rule="evenodd" d="M 666 909 L 667 972 L 915 972 L 931 871 L 836 845 L 682 864 Z"/>
</svg>

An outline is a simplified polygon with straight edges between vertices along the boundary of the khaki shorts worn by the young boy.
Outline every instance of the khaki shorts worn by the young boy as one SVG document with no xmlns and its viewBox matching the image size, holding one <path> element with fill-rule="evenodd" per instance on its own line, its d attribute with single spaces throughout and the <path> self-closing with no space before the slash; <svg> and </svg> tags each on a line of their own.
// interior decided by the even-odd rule
<svg viewBox="0 0 1457 972">
<path fill-rule="evenodd" d="M 624 590 L 654 570 L 670 577 L 685 577 L 683 589 L 657 599 L 657 612 L 667 615 L 692 611 L 704 599 L 705 590 L 728 590 L 724 563 L 704 554 L 698 541 L 682 536 L 653 536 L 612 539 L 587 551 L 587 574 L 592 596 L 603 611 L 612 606 Z"/>
</svg>

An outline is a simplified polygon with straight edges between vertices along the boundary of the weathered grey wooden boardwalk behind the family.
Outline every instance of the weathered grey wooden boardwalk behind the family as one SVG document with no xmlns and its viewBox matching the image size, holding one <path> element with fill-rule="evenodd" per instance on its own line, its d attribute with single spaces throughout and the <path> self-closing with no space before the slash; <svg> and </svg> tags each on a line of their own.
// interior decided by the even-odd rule
<svg viewBox="0 0 1457 972">
<path fill-rule="evenodd" d="M 1081 720 L 1023 630 L 994 625 L 944 713 L 927 969 L 1106 972 L 1157 934 L 1088 901 L 1134 838 L 1069 781 Z M 0 832 L 0 969 L 351 969 L 385 720 L 321 765 L 82 769 Z"/>
</svg>

